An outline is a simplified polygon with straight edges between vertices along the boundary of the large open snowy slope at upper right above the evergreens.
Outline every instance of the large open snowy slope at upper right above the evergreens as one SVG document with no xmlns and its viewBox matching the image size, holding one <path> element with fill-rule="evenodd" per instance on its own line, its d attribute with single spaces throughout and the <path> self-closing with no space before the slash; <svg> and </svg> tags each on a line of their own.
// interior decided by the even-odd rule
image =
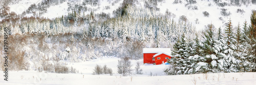
<svg viewBox="0 0 256 85">
<path fill-rule="evenodd" d="M 249 21 L 251 10 L 255 10 L 256 5 L 242 5 L 242 6 L 225 6 L 219 7 L 213 1 L 202 1 L 196 0 L 196 4 L 192 4 L 191 6 L 197 6 L 197 10 L 193 10 L 192 8 L 188 9 L 188 6 L 185 7 L 185 3 L 183 1 L 182 4 L 173 4 L 173 1 L 165 1 L 161 4 L 158 4 L 158 8 L 160 8 L 160 13 L 165 14 L 166 9 L 176 15 L 176 20 L 178 21 L 181 15 L 185 15 L 187 19 L 196 26 L 197 30 L 204 30 L 205 25 L 214 24 L 216 28 L 225 27 L 225 23 L 228 22 L 229 18 L 233 22 L 235 26 L 238 23 L 242 24 L 241 21 Z M 225 8 L 227 11 L 230 11 L 230 16 L 222 16 L 221 9 Z M 244 10 L 244 13 L 237 13 L 238 9 Z M 205 17 L 203 12 L 206 11 L 209 13 L 209 17 Z M 219 18 L 222 17 L 223 20 Z M 196 23 L 196 19 L 198 19 L 198 23 Z"/>
</svg>

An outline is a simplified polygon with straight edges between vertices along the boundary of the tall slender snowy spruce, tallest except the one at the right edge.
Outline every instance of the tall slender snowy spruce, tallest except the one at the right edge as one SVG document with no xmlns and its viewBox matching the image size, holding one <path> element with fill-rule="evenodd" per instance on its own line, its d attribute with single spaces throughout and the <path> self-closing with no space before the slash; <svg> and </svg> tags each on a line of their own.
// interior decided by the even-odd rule
<svg viewBox="0 0 256 85">
<path fill-rule="evenodd" d="M 231 20 L 229 19 L 228 24 L 226 25 L 226 43 L 227 43 L 227 49 L 224 51 L 226 53 L 226 57 L 224 58 L 227 62 L 227 69 L 225 69 L 225 72 L 239 72 L 240 67 L 239 63 L 241 62 L 237 58 L 234 58 L 233 51 L 236 49 L 236 46 L 234 45 L 234 33 Z"/>
</svg>

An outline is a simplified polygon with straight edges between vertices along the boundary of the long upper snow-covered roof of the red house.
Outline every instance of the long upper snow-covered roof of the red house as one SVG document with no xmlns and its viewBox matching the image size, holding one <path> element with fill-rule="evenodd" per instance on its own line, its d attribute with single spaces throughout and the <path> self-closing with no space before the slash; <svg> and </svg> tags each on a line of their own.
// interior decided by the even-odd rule
<svg viewBox="0 0 256 85">
<path fill-rule="evenodd" d="M 160 53 L 160 52 L 165 52 L 165 53 L 172 53 L 170 51 L 170 48 L 143 48 L 143 53 Z"/>
</svg>

